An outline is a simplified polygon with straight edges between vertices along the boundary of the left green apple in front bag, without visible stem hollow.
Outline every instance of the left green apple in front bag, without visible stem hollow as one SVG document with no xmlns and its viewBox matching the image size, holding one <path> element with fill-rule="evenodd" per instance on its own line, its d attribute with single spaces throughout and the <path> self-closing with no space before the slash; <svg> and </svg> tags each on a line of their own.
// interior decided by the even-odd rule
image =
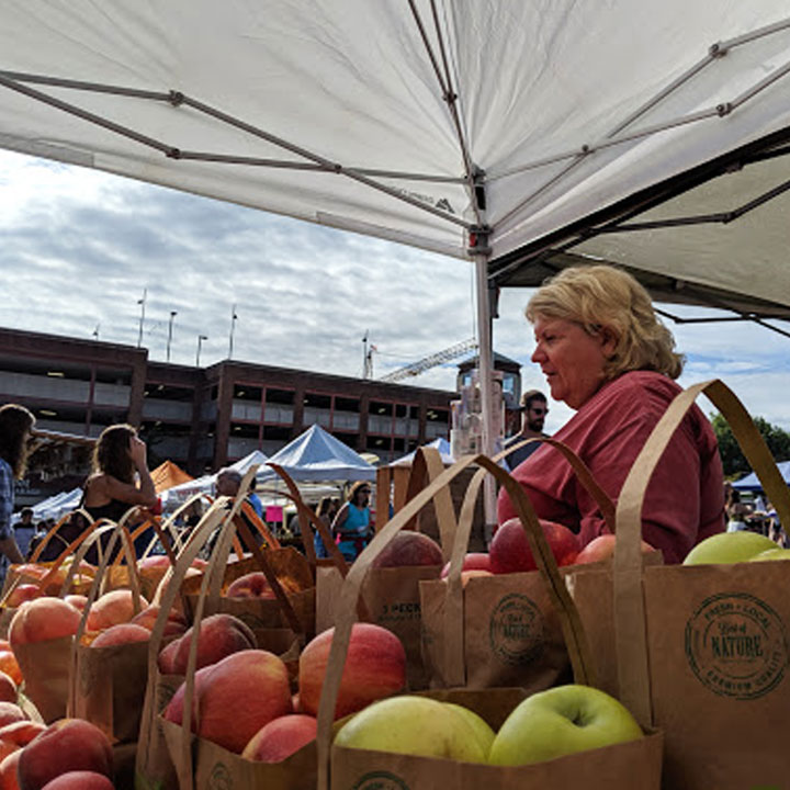
<svg viewBox="0 0 790 790">
<path fill-rule="evenodd" d="M 338 746 L 485 763 L 479 736 L 466 716 L 428 697 L 390 697 L 361 710 L 340 727 Z"/>
</svg>

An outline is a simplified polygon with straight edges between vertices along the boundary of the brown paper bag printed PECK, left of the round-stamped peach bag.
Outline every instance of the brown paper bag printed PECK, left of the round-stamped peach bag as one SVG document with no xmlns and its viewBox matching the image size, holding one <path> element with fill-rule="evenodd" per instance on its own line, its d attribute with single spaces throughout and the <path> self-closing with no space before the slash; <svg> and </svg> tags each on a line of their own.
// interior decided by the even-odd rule
<svg viewBox="0 0 790 790">
<path fill-rule="evenodd" d="M 425 487 L 426 481 L 436 479 L 444 471 L 441 456 L 435 448 L 419 448 L 415 454 L 409 476 L 407 497 L 414 497 Z M 436 523 L 444 558 L 455 535 L 456 522 L 452 499 L 448 488 L 442 488 L 433 500 Z M 418 519 L 413 519 L 407 529 L 419 529 Z M 406 651 L 406 674 L 411 690 L 428 687 L 429 675 L 422 654 L 422 614 L 420 602 L 420 583 L 438 579 L 440 565 L 416 567 L 370 568 L 362 585 L 362 601 L 368 610 L 363 619 L 392 631 L 403 642 Z M 337 568 L 316 568 L 316 598 L 320 618 L 318 631 L 335 624 L 337 609 L 335 601 L 342 577 Z"/>
</svg>

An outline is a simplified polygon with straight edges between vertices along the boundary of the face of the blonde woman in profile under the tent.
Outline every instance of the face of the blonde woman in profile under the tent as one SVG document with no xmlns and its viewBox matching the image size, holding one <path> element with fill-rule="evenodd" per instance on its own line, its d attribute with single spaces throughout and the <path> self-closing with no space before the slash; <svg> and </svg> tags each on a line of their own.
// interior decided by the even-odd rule
<svg viewBox="0 0 790 790">
<path fill-rule="evenodd" d="M 611 332 L 590 335 L 575 321 L 538 316 L 534 334 L 531 359 L 541 366 L 552 397 L 580 408 L 605 381 L 603 366 L 616 346 Z"/>
</svg>

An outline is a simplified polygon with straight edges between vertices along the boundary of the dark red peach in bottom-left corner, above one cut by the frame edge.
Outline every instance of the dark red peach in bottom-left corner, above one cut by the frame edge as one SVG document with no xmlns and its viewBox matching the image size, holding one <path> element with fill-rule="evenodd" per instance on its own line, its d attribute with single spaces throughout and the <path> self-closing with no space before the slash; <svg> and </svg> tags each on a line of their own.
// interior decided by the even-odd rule
<svg viewBox="0 0 790 790">
<path fill-rule="evenodd" d="M 93 771 L 108 778 L 113 775 L 110 741 L 98 726 L 81 719 L 56 721 L 22 749 L 20 790 L 42 790 L 69 771 Z"/>
</svg>

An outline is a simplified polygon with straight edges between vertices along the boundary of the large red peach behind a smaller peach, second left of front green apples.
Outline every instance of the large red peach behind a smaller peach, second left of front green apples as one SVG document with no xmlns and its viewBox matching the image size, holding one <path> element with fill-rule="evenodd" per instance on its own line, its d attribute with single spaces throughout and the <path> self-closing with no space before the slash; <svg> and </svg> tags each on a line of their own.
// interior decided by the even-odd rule
<svg viewBox="0 0 790 790">
<path fill-rule="evenodd" d="M 240 754 L 264 724 L 291 712 L 287 668 L 273 653 L 260 650 L 234 653 L 198 673 L 195 682 L 198 675 L 201 676 L 198 734 L 230 752 Z M 166 710 L 169 721 L 181 722 L 183 688 L 185 684 Z M 179 693 L 180 711 L 176 703 Z"/>
</svg>

